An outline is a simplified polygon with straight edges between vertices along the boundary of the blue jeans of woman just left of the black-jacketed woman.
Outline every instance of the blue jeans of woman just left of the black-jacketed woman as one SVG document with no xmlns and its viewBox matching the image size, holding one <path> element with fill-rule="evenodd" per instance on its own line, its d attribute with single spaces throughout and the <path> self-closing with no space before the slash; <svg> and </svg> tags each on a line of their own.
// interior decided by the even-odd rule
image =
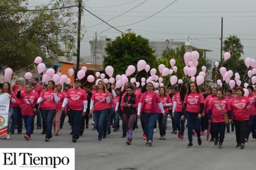
<svg viewBox="0 0 256 170">
<path fill-rule="evenodd" d="M 98 110 L 93 112 L 94 128 L 98 132 L 98 139 L 103 138 L 103 128 L 107 119 L 107 109 Z"/>
</svg>

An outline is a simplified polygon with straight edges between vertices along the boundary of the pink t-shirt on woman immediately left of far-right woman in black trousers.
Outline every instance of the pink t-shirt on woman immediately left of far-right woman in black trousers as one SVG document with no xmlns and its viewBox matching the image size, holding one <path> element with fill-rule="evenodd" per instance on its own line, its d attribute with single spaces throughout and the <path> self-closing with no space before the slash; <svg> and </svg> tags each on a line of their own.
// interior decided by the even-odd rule
<svg viewBox="0 0 256 170">
<path fill-rule="evenodd" d="M 219 100 L 217 97 L 209 104 L 209 110 L 212 110 L 212 120 L 213 123 L 225 122 L 224 113 L 227 113 L 227 110 L 231 110 L 231 105 L 227 98 L 222 98 Z M 222 109 L 222 110 L 221 110 Z"/>
</svg>

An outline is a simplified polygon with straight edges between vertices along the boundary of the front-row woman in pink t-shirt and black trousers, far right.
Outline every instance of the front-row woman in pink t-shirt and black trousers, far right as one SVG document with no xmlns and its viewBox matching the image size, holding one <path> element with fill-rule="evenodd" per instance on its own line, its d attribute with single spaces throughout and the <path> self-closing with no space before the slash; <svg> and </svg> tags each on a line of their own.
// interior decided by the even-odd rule
<svg viewBox="0 0 256 170">
<path fill-rule="evenodd" d="M 237 87 L 235 89 L 235 97 L 231 101 L 231 110 L 233 113 L 233 122 L 235 125 L 235 138 L 238 148 L 244 149 L 245 132 L 249 122 L 249 98 L 244 96 L 244 89 Z"/>
</svg>

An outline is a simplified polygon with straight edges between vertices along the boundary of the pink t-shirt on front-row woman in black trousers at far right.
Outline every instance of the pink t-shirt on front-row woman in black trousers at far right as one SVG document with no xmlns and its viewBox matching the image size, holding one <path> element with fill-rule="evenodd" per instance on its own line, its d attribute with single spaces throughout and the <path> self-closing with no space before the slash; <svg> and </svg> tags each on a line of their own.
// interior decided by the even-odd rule
<svg viewBox="0 0 256 170">
<path fill-rule="evenodd" d="M 234 97 L 231 101 L 231 110 L 233 111 L 234 120 L 249 120 L 249 112 L 247 110 L 247 105 L 250 104 L 248 97 L 242 96 L 240 99 Z"/>
</svg>

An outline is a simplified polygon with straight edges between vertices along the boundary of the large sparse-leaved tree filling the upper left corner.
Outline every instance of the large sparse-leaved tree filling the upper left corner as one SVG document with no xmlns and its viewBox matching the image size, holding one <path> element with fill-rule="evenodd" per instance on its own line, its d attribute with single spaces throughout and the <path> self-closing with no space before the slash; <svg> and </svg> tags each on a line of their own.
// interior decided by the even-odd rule
<svg viewBox="0 0 256 170">
<path fill-rule="evenodd" d="M 53 1 L 35 10 L 28 10 L 25 2 L 0 2 L 0 69 L 25 68 L 35 56 L 42 56 L 44 63 L 45 57 L 54 61 L 63 55 L 63 46 L 75 48 L 72 1 Z"/>
</svg>

